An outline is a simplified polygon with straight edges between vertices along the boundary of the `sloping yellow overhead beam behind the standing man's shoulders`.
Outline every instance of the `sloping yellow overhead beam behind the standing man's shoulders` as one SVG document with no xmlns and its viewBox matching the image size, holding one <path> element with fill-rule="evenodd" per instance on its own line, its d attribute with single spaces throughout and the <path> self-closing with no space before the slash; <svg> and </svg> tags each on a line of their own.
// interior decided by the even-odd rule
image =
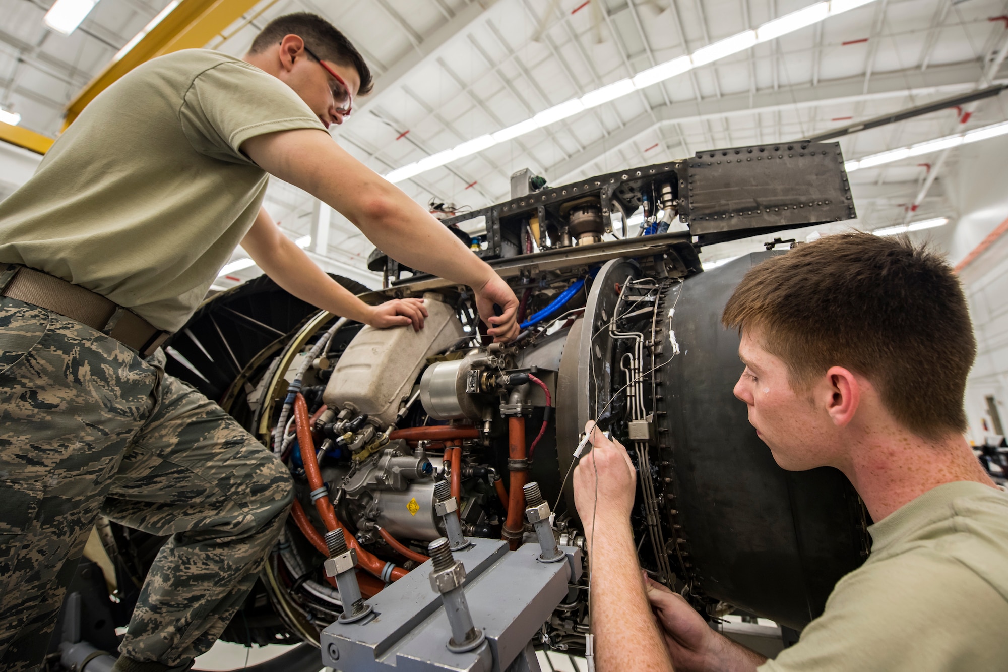
<svg viewBox="0 0 1008 672">
<path fill-rule="evenodd" d="M 165 53 L 203 47 L 251 9 L 256 0 L 181 0 L 133 48 L 105 67 L 67 106 L 67 124 L 113 82 L 142 63 Z"/>
</svg>

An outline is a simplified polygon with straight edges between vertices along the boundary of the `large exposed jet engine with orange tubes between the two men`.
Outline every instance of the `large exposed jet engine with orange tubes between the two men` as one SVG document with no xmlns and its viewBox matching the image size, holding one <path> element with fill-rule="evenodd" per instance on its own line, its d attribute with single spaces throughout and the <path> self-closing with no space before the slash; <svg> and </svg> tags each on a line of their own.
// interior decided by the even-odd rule
<svg viewBox="0 0 1008 672">
<path fill-rule="evenodd" d="M 705 244 L 854 217 L 839 146 L 720 149 L 519 191 L 445 220 L 520 298 L 513 343 L 482 335 L 467 288 L 410 274 L 379 251 L 371 263 L 385 288 L 362 298 L 422 298 L 421 331 L 313 312 L 258 278 L 209 300 L 170 342 L 168 371 L 218 400 L 296 485 L 284 534 L 225 639 L 324 644 L 349 608 L 323 566 L 336 528 L 356 552 L 364 599 L 426 562 L 439 537 L 534 544 L 523 493 L 532 481 L 557 543 L 587 550 L 569 476 L 592 419 L 637 467 L 641 565 L 710 618 L 738 608 L 800 630 L 866 556 L 864 510 L 847 480 L 781 470 L 732 396 L 738 336 L 720 326 L 721 310 L 753 263 L 782 252 L 706 272 L 698 257 Z M 156 540 L 114 526 L 105 539 L 128 603 Z M 584 650 L 581 569 L 533 624 L 535 646 Z"/>
</svg>

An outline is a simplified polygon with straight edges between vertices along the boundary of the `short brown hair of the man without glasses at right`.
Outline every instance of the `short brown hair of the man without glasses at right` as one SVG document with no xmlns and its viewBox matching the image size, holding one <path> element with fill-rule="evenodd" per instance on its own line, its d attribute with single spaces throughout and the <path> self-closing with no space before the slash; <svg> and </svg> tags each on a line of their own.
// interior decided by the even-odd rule
<svg viewBox="0 0 1008 672">
<path fill-rule="evenodd" d="M 795 388 L 843 366 L 918 436 L 966 431 L 977 341 L 959 278 L 926 244 L 851 232 L 798 245 L 753 266 L 722 321 L 759 331 Z"/>
</svg>

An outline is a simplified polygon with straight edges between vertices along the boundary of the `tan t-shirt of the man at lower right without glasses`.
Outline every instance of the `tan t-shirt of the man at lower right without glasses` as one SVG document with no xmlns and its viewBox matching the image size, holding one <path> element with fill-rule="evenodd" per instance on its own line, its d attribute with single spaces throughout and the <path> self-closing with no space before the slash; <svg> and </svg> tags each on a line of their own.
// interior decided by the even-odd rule
<svg viewBox="0 0 1008 672">
<path fill-rule="evenodd" d="M 1008 492 L 946 483 L 869 532 L 865 564 L 759 672 L 1008 670 Z"/>
</svg>

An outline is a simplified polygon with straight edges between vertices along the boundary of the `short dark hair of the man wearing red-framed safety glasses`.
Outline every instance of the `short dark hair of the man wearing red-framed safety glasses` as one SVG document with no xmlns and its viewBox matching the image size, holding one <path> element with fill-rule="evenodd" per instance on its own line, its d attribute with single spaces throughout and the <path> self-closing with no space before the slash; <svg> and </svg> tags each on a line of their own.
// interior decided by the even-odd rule
<svg viewBox="0 0 1008 672">
<path fill-rule="evenodd" d="M 364 57 L 345 34 L 318 14 L 296 12 L 277 16 L 259 31 L 252 41 L 252 46 L 249 47 L 249 52 L 262 53 L 270 46 L 281 42 L 286 35 L 297 35 L 303 39 L 311 52 L 318 53 L 321 59 L 356 70 L 361 77 L 358 96 L 371 92 L 374 79 Z"/>
</svg>

